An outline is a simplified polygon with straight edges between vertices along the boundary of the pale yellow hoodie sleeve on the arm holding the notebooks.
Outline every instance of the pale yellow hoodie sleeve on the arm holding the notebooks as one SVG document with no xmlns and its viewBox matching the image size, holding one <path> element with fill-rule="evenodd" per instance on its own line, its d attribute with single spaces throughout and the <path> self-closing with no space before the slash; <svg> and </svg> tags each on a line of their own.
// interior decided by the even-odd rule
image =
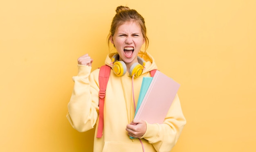
<svg viewBox="0 0 256 152">
<path fill-rule="evenodd" d="M 144 138 L 153 144 L 157 152 L 169 152 L 180 137 L 186 119 L 182 113 L 179 97 L 176 95 L 163 124 L 149 124 Z"/>
</svg>

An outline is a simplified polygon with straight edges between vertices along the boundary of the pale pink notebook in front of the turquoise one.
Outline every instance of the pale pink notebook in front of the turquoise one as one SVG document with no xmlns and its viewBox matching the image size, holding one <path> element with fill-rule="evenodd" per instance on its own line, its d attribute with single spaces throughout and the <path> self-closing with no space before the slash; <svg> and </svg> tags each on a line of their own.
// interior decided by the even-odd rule
<svg viewBox="0 0 256 152">
<path fill-rule="evenodd" d="M 179 87 L 179 83 L 157 71 L 134 119 L 162 124 Z"/>
</svg>

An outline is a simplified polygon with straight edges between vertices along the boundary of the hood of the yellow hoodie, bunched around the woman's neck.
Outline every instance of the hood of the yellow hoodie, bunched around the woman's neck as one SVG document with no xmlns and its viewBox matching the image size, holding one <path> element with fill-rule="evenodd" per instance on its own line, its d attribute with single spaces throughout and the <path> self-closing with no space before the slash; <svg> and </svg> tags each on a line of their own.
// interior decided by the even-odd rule
<svg viewBox="0 0 256 152">
<path fill-rule="evenodd" d="M 117 53 L 110 53 L 107 55 L 105 64 L 110 66 L 111 68 L 113 67 L 112 63 L 112 57 L 117 54 Z M 157 65 L 155 63 L 155 59 L 148 53 L 148 52 L 143 52 L 139 51 L 138 56 L 141 57 L 145 61 L 145 69 L 143 70 L 142 74 L 146 72 L 150 72 L 153 69 L 157 69 Z"/>
</svg>

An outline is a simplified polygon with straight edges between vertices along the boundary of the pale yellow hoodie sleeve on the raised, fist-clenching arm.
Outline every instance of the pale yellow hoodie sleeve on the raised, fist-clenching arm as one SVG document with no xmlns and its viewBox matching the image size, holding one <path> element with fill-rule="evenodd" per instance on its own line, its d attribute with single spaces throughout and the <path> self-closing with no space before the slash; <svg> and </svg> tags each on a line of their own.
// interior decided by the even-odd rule
<svg viewBox="0 0 256 152">
<path fill-rule="evenodd" d="M 98 118 L 99 98 L 97 82 L 90 83 L 92 67 L 78 65 L 78 75 L 73 77 L 74 89 L 68 103 L 67 119 L 74 129 L 85 132 L 94 127 Z M 93 81 L 92 81 L 93 82 Z"/>
</svg>

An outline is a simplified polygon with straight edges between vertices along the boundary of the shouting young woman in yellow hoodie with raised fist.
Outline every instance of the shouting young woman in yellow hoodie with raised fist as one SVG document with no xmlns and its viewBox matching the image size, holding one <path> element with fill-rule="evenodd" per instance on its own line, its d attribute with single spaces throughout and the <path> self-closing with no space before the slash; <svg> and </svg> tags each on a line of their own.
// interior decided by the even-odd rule
<svg viewBox="0 0 256 152">
<path fill-rule="evenodd" d="M 91 72 L 93 60 L 88 54 L 78 58 L 78 75 L 73 77 L 74 90 L 67 118 L 79 132 L 97 124 L 94 152 L 169 152 L 186 124 L 179 98 L 175 96 L 162 124 L 133 119 L 142 78 L 150 76 L 157 65 L 150 54 L 141 51 L 144 43 L 148 46 L 144 18 L 128 7 L 117 7 L 116 12 L 108 42 L 114 45 L 117 53 L 108 54 L 105 60 L 112 69 L 106 89 L 102 136 L 97 137 L 99 69 Z"/>
</svg>

